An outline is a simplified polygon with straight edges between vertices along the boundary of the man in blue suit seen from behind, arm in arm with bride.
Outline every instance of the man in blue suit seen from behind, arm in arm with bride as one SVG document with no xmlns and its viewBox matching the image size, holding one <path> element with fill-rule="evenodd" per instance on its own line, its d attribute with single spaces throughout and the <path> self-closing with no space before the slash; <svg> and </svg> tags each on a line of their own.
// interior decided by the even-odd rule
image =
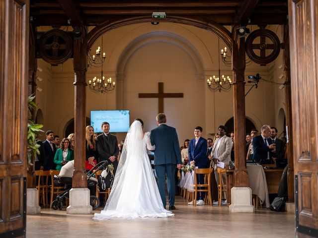
<svg viewBox="0 0 318 238">
<path fill-rule="evenodd" d="M 163 207 L 165 200 L 165 176 L 167 178 L 167 189 L 169 195 L 169 210 L 174 210 L 175 196 L 175 168 L 181 168 L 181 152 L 179 148 L 178 135 L 175 128 L 166 125 L 166 117 L 159 113 L 156 117 L 158 127 L 151 131 L 150 141 L 155 145 L 155 170 L 158 178 L 158 188 Z"/>
</svg>

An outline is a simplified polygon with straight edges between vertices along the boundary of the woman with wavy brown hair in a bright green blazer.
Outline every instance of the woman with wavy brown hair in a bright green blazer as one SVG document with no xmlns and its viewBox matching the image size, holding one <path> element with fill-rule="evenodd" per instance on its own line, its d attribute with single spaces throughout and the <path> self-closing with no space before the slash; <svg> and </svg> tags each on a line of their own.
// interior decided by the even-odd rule
<svg viewBox="0 0 318 238">
<path fill-rule="evenodd" d="M 61 170 L 62 166 L 72 160 L 74 160 L 74 151 L 71 150 L 71 143 L 69 139 L 64 138 L 54 157 L 56 170 Z"/>
</svg>

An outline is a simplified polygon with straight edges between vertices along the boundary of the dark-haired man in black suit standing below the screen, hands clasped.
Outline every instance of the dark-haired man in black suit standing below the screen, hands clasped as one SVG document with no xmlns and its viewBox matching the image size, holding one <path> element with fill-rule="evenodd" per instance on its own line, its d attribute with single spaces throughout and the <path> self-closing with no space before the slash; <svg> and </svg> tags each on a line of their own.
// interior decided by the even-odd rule
<svg viewBox="0 0 318 238">
<path fill-rule="evenodd" d="M 99 162 L 108 160 L 112 163 L 115 173 L 118 166 L 117 158 L 119 154 L 117 137 L 109 133 L 110 126 L 108 122 L 102 122 L 101 129 L 103 133 L 96 138 L 98 159 Z"/>
</svg>

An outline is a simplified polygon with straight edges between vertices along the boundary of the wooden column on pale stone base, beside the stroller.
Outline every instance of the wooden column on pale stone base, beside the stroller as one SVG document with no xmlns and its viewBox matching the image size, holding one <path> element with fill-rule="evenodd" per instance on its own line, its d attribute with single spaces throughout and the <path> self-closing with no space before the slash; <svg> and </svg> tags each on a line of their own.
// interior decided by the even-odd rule
<svg viewBox="0 0 318 238">
<path fill-rule="evenodd" d="M 75 103 L 74 103 L 74 188 L 87 187 L 85 173 L 85 126 L 86 126 L 86 71 L 87 71 L 86 29 L 82 27 L 80 37 L 74 39 Z"/>
</svg>

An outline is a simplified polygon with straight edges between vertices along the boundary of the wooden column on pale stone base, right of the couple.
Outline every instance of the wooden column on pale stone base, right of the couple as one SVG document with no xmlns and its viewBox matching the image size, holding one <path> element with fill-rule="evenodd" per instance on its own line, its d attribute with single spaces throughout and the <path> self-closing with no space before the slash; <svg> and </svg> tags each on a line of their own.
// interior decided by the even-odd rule
<svg viewBox="0 0 318 238">
<path fill-rule="evenodd" d="M 236 27 L 233 27 L 233 36 Z M 248 187 L 245 157 L 245 38 L 232 41 L 235 187 Z"/>
</svg>

